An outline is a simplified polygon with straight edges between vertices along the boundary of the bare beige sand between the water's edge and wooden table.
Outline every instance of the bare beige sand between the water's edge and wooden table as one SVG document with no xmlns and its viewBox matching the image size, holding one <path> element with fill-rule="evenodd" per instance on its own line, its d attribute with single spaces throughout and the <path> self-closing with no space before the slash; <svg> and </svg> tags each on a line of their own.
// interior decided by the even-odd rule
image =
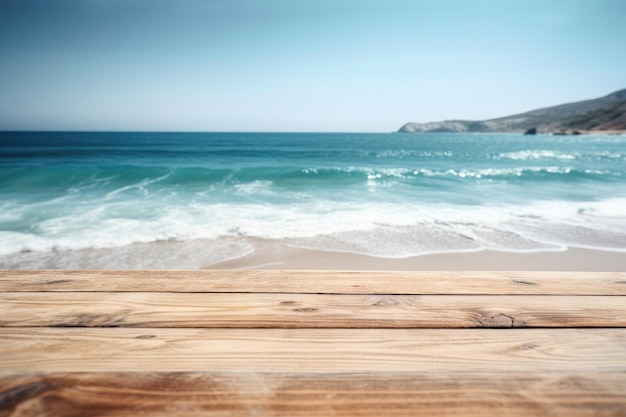
<svg viewBox="0 0 626 417">
<path fill-rule="evenodd" d="M 276 241 L 252 241 L 254 252 L 205 269 L 371 270 L 371 271 L 626 271 L 626 254 L 571 247 L 563 251 L 501 252 L 479 250 L 379 258 L 344 252 L 291 247 Z"/>
</svg>

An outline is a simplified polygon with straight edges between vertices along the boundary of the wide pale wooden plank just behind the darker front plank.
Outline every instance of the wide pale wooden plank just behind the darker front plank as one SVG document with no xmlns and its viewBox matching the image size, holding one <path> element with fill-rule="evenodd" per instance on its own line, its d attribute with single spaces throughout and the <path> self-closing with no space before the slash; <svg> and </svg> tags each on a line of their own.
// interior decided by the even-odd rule
<svg viewBox="0 0 626 417">
<path fill-rule="evenodd" d="M 626 329 L 0 328 L 4 372 L 619 373 Z"/>
</svg>

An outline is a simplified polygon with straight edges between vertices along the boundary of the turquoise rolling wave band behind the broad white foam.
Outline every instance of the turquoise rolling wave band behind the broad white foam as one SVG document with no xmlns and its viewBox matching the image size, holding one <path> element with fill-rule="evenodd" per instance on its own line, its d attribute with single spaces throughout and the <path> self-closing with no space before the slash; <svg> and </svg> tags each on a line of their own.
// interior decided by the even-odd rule
<svg viewBox="0 0 626 417">
<path fill-rule="evenodd" d="M 386 166 L 261 166 L 236 168 L 50 168 L 22 172 L 0 180 L 4 199 L 12 197 L 53 199 L 82 196 L 87 199 L 124 200 L 150 195 L 212 195 L 228 199 L 231 193 L 253 196 L 290 195 L 308 191 L 359 192 L 363 185 L 398 184 L 407 192 L 415 187 L 448 187 L 441 181 L 622 181 L 623 169 L 585 168 L 573 165 L 529 165 L 517 167 L 386 167 Z M 573 183 L 572 183 L 573 184 Z M 409 187 L 408 189 L 406 187 Z M 400 191 L 400 190 L 398 190 Z M 450 189 L 451 192 L 455 190 Z M 462 192 L 459 189 L 458 192 Z"/>
</svg>

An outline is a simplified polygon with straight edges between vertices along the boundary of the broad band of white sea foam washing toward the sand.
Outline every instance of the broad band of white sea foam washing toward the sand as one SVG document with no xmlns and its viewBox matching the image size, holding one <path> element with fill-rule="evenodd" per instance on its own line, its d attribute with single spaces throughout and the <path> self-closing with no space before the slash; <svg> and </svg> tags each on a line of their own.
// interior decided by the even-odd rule
<svg viewBox="0 0 626 417">
<path fill-rule="evenodd" d="M 555 250 L 570 245 L 624 250 L 623 207 L 626 199 L 491 207 L 196 202 L 161 210 L 146 207 L 130 217 L 133 205 L 119 203 L 39 221 L 28 233 L 1 231 L 0 255 L 225 236 L 281 239 L 295 246 L 386 257 L 485 248 Z"/>
</svg>

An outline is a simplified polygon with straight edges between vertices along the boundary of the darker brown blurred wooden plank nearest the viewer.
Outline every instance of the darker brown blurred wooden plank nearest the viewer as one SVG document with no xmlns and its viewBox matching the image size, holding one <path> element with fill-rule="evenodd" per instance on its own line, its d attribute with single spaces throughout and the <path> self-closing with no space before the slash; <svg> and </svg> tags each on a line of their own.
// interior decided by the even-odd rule
<svg viewBox="0 0 626 417">
<path fill-rule="evenodd" d="M 0 377 L 0 416 L 626 414 L 620 374 L 55 373 Z"/>
</svg>

